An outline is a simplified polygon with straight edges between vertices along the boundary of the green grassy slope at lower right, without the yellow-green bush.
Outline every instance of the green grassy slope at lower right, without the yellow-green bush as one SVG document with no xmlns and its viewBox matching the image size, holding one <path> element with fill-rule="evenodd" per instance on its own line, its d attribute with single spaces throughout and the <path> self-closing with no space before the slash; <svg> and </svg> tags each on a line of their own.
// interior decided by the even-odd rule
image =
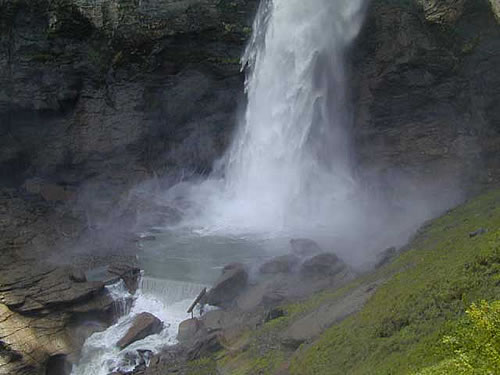
<svg viewBox="0 0 500 375">
<path fill-rule="evenodd" d="M 478 228 L 487 233 L 470 238 Z M 240 349 L 193 366 L 192 374 L 407 374 L 439 363 L 441 338 L 465 309 L 500 299 L 500 190 L 450 211 L 419 231 L 393 263 L 346 287 L 284 306 L 287 316 L 247 332 Z M 388 279 L 362 311 L 334 325 L 297 353 L 280 345 L 291 322 L 348 294 Z M 215 367 L 216 366 L 216 367 Z M 283 372 L 281 372 L 284 370 Z"/>
</svg>

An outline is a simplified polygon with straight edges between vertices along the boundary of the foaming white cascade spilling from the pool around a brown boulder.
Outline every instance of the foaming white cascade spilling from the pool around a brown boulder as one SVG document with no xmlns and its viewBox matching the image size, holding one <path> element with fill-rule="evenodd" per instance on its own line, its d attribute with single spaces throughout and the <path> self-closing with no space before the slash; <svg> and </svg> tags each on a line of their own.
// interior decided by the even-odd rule
<svg viewBox="0 0 500 375">
<path fill-rule="evenodd" d="M 159 352 L 166 345 L 176 343 L 179 324 L 189 318 L 186 310 L 204 285 L 178 281 L 142 278 L 135 296 L 131 296 L 124 283 L 108 286 L 113 299 L 123 302 L 134 298 L 133 304 L 116 324 L 89 337 L 82 349 L 72 375 L 108 375 L 113 371 L 132 371 L 139 364 L 138 350 Z M 122 303 L 119 303 L 122 305 Z M 136 315 L 149 312 L 164 323 L 161 333 L 139 340 L 123 350 L 116 343 L 122 338 Z"/>
</svg>

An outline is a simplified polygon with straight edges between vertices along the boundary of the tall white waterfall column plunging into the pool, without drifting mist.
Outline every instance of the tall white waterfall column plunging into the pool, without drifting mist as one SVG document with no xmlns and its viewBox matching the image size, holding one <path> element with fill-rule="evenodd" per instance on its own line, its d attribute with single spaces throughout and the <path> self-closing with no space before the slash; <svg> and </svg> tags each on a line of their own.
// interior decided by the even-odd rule
<svg viewBox="0 0 500 375">
<path fill-rule="evenodd" d="M 200 202 L 191 225 L 238 234 L 347 225 L 357 186 L 345 55 L 364 10 L 365 0 L 261 2 L 242 58 L 246 113 L 223 177 L 191 189 Z"/>
</svg>

